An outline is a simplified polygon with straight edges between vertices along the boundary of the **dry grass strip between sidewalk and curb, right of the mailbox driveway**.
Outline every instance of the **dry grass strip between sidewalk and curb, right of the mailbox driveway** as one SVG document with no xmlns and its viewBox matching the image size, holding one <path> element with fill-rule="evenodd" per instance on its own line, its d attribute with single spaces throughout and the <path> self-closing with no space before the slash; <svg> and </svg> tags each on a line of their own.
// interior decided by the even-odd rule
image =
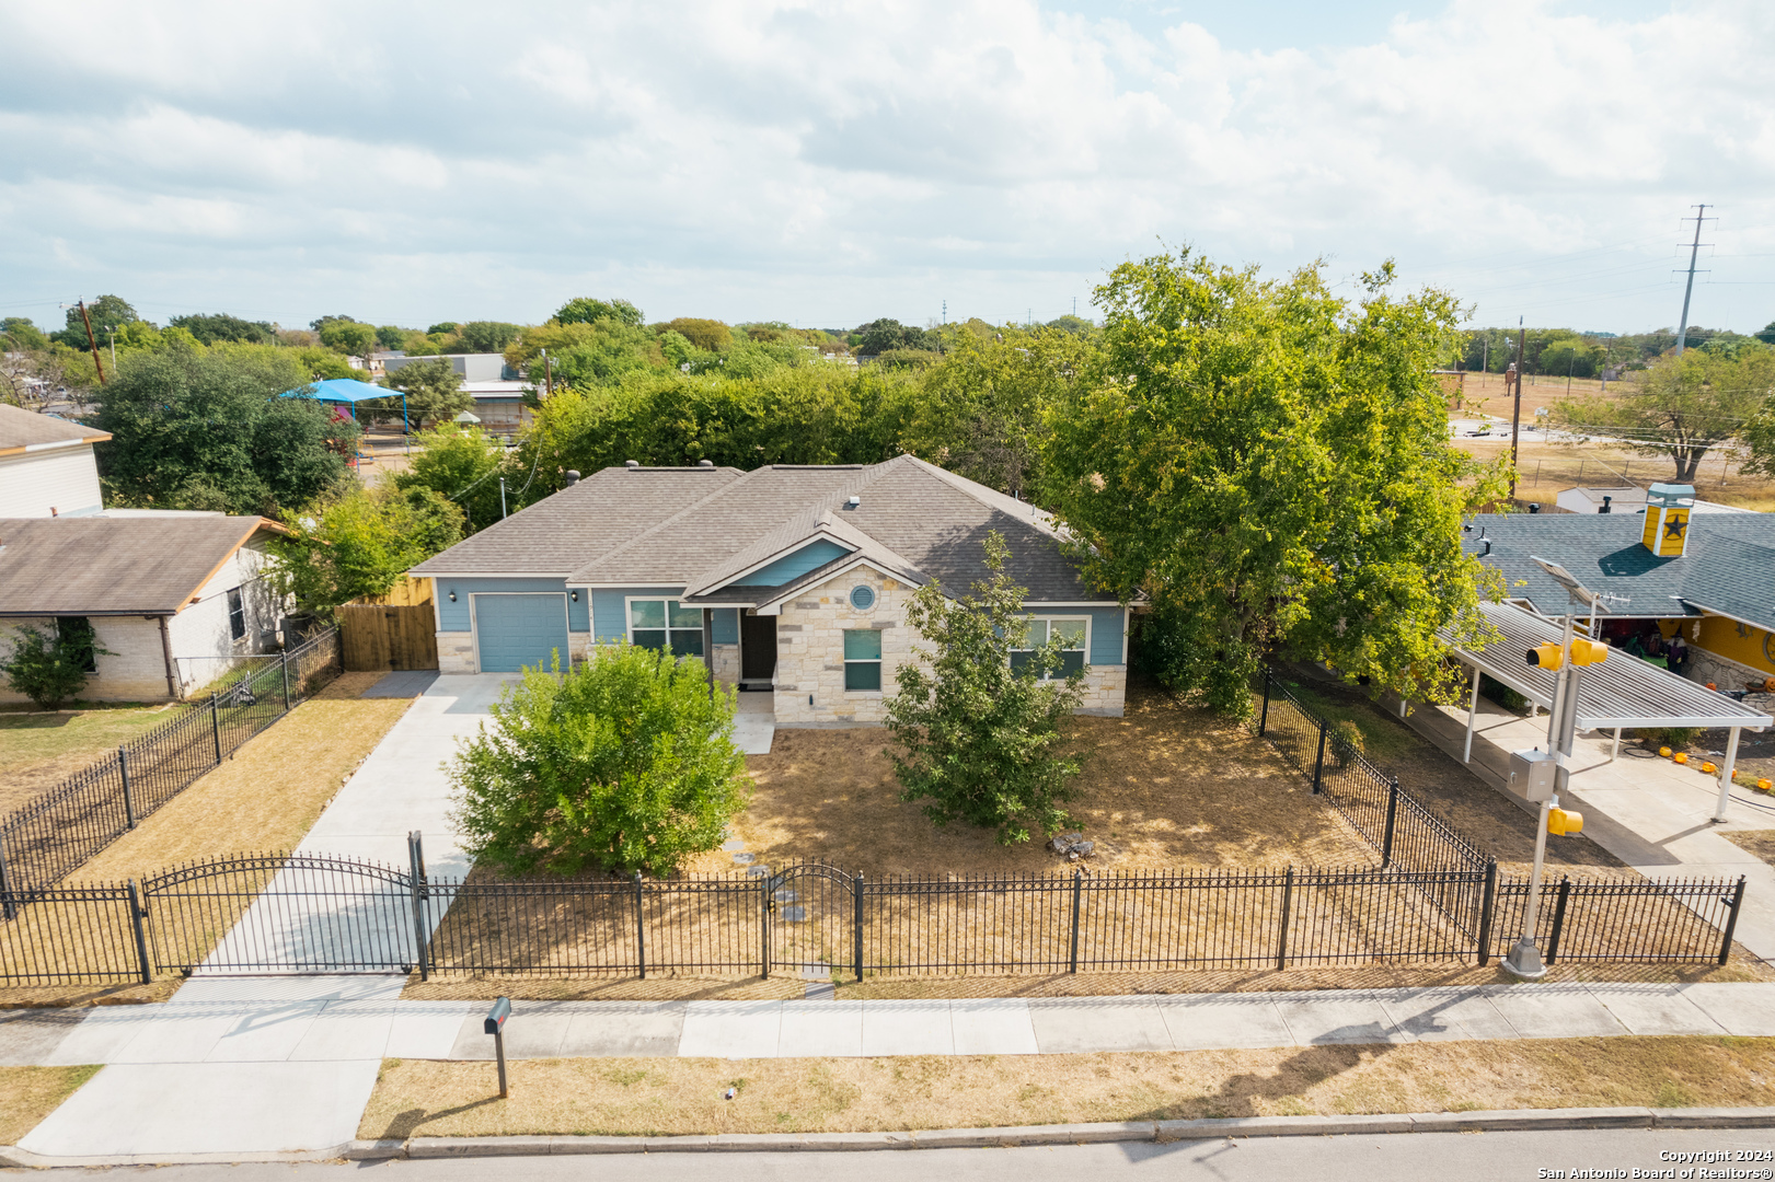
<svg viewBox="0 0 1775 1182">
<path fill-rule="evenodd" d="M 1768 1102 L 1775 1038 L 1571 1038 L 877 1060 L 383 1063 L 360 1138 L 866 1132 Z M 738 1095 L 724 1100 L 735 1088 Z"/>
</svg>

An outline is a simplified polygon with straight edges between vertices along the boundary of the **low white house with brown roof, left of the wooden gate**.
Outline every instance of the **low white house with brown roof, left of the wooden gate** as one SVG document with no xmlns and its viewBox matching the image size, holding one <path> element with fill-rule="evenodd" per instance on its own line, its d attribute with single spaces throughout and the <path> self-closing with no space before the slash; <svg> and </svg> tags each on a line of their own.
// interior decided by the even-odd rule
<svg viewBox="0 0 1775 1182">
<path fill-rule="evenodd" d="M 0 520 L 0 651 L 18 626 L 85 619 L 99 648 L 89 699 L 160 701 L 206 685 L 277 644 L 286 603 L 261 577 L 261 516 Z M 0 683 L 0 701 L 23 701 Z"/>
</svg>

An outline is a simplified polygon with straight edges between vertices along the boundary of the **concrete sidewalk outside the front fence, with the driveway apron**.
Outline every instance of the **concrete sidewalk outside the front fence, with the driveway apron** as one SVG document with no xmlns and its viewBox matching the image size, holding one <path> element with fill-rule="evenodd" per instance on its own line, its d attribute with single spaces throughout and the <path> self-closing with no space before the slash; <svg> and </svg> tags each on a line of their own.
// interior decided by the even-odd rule
<svg viewBox="0 0 1775 1182">
<path fill-rule="evenodd" d="M 147 1006 L 0 1015 L 0 1063 L 106 1063 L 20 1141 L 50 1157 L 325 1150 L 383 1058 L 486 1060 L 485 1001 L 405 978 L 208 978 Z M 513 1058 L 1067 1054 L 1615 1035 L 1775 1035 L 1775 983 L 1484 985 L 955 1001 L 515 1003 Z"/>
</svg>

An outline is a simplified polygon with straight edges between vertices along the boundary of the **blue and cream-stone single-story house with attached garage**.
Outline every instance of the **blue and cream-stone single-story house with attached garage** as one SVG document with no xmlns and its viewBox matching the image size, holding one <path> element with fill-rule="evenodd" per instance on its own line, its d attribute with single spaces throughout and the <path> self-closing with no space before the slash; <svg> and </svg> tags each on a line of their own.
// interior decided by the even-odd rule
<svg viewBox="0 0 1775 1182">
<path fill-rule="evenodd" d="M 1127 609 L 1092 591 L 1051 518 L 898 456 L 877 465 L 605 469 L 421 563 L 444 673 L 515 671 L 632 641 L 708 655 L 774 696 L 777 726 L 880 722 L 918 642 L 912 591 L 966 595 L 990 531 L 1038 639 L 1085 671 L 1083 713 L 1120 715 Z"/>
</svg>

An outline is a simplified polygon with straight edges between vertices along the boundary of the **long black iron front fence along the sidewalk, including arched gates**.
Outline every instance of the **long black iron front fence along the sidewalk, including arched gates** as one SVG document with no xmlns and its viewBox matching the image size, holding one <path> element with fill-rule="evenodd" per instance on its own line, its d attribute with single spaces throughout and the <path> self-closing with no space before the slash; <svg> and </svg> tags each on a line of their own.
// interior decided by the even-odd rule
<svg viewBox="0 0 1775 1182">
<path fill-rule="evenodd" d="M 501 882 L 307 854 L 57 887 L 0 925 L 0 980 L 410 973 L 641 976 L 1125 973 L 1487 962 L 1526 882 L 1496 866 L 864 879 L 802 863 L 758 877 Z M 1438 905 L 1479 900 L 1468 932 Z M 1550 964 L 1725 962 L 1740 882 L 1566 880 L 1541 910 Z"/>
</svg>

